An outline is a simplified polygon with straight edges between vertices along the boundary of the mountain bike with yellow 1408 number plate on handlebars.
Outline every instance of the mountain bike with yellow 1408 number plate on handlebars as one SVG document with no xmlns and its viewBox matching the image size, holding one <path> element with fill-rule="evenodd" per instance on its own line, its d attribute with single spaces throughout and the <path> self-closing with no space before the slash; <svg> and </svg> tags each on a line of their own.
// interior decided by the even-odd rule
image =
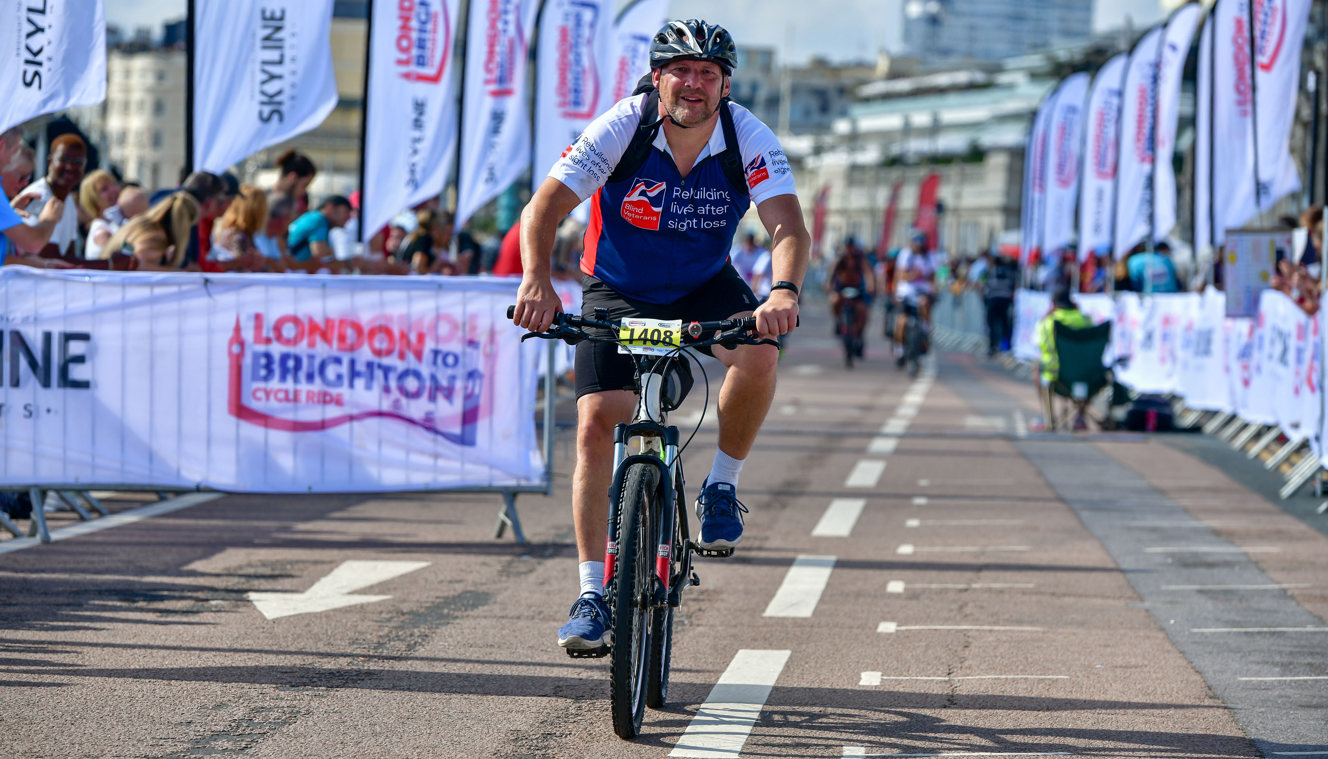
<svg viewBox="0 0 1328 759">
<path fill-rule="evenodd" d="M 513 308 L 507 309 L 511 318 Z M 668 698 L 673 646 L 673 610 L 683 590 L 700 585 L 693 556 L 722 557 L 732 548 L 705 549 L 692 541 L 687 516 L 685 480 L 679 429 L 668 423 L 691 387 L 691 349 L 709 345 L 774 345 L 757 336 L 756 318 L 722 321 L 660 321 L 594 318 L 559 313 L 539 337 L 615 342 L 636 365 L 636 411 L 614 429 L 614 479 L 610 488 L 608 541 L 604 547 L 604 601 L 612 610 L 612 645 L 572 657 L 610 656 L 610 703 L 614 731 L 623 739 L 640 735 L 645 707 Z M 703 372 L 704 377 L 704 372 Z M 706 394 L 709 385 L 706 383 Z M 706 406 L 709 402 L 706 402 Z M 700 423 L 697 423 L 700 429 Z M 692 431 L 692 435 L 696 430 Z M 691 438 L 688 438 L 688 443 Z"/>
</svg>

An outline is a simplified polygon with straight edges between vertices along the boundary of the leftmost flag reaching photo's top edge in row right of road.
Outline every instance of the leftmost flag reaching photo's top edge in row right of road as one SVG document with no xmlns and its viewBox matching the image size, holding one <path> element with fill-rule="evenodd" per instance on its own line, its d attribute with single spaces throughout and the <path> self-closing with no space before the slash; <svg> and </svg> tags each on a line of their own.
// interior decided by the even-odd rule
<svg viewBox="0 0 1328 759">
<path fill-rule="evenodd" d="M 1185 60 L 1190 54 L 1194 29 L 1203 15 L 1198 3 L 1182 5 L 1166 23 L 1162 48 L 1158 58 L 1157 84 L 1157 143 L 1153 180 L 1153 238 L 1161 240 L 1175 227 L 1175 169 L 1171 155 L 1175 153 L 1175 130 L 1181 118 L 1181 80 L 1185 76 Z"/>
</svg>

